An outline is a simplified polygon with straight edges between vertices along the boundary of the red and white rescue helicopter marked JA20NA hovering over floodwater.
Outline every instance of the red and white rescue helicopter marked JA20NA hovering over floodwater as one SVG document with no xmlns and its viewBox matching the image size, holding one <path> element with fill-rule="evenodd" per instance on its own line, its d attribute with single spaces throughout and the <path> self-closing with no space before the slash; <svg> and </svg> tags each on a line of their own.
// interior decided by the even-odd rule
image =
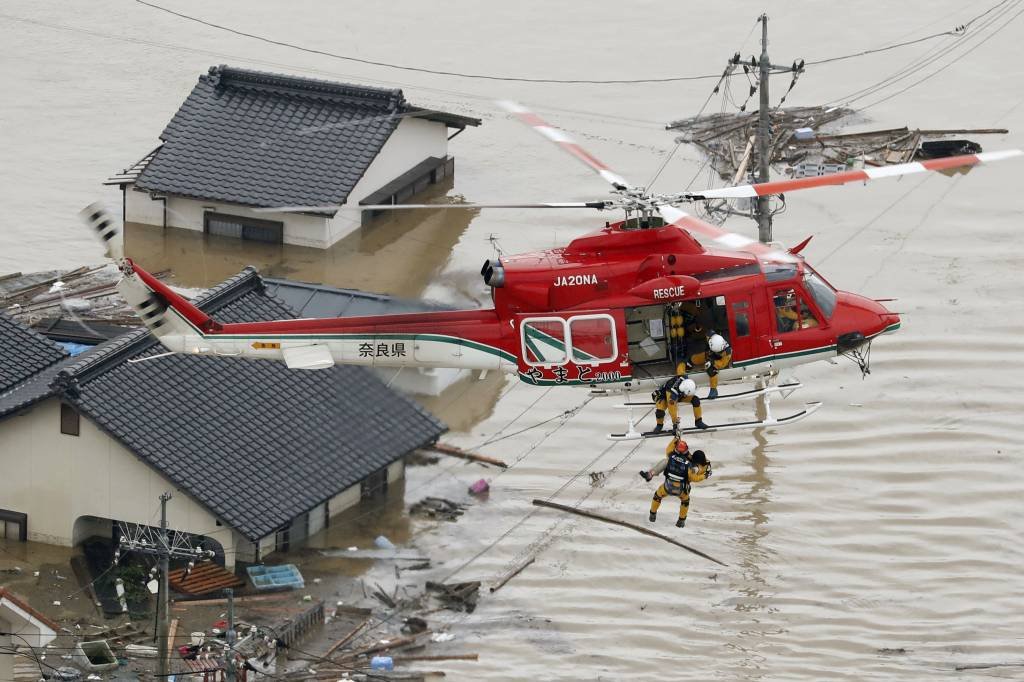
<svg viewBox="0 0 1024 682">
<path fill-rule="evenodd" d="M 980 153 L 920 163 L 850 170 L 710 189 L 653 195 L 630 184 L 564 132 L 513 102 L 514 116 L 582 161 L 611 184 L 611 198 L 549 204 L 463 204 L 443 208 L 621 209 L 625 219 L 567 246 L 488 260 L 481 270 L 494 307 L 361 317 L 222 324 L 125 258 L 120 227 L 93 205 L 83 218 L 98 233 L 124 274 L 119 289 L 170 353 L 283 360 L 317 370 L 336 364 L 388 368 L 457 368 L 517 374 L 536 386 L 585 386 L 599 394 L 656 388 L 676 376 L 687 357 L 674 319 L 686 334 L 713 332 L 731 345 L 723 382 L 756 387 L 712 402 L 772 392 L 787 395 L 797 382 L 778 383 L 780 370 L 837 355 L 868 369 L 873 339 L 900 327 L 899 315 L 879 301 L 837 291 L 800 251 L 726 231 L 677 208 L 712 199 L 763 197 L 831 184 L 926 171 L 950 171 L 1021 156 L 1021 151 Z M 325 210 L 339 207 L 280 207 Z M 348 208 L 348 207 L 340 207 Z M 362 206 L 361 210 L 437 209 L 437 205 Z M 708 380 L 703 367 L 689 373 Z M 707 398 L 706 398 L 707 399 Z M 767 402 L 767 400 L 766 400 Z M 628 402 L 627 407 L 651 403 Z M 796 414 L 712 426 L 753 428 L 799 421 L 820 403 Z M 632 415 L 632 413 L 631 413 Z M 687 429 L 689 430 L 689 429 Z M 630 417 L 626 433 L 635 438 Z"/>
</svg>

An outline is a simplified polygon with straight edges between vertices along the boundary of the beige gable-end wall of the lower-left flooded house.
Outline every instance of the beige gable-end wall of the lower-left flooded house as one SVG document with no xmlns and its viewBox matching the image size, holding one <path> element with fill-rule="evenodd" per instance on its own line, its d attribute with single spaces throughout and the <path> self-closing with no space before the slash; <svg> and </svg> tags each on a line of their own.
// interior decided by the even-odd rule
<svg viewBox="0 0 1024 682">
<path fill-rule="evenodd" d="M 70 546 L 83 516 L 152 525 L 160 495 L 170 491 L 168 525 L 213 538 L 233 565 L 230 528 L 88 418 L 80 419 L 80 435 L 60 433 L 57 398 L 0 422 L 0 506 L 29 515 L 29 540 Z"/>
</svg>

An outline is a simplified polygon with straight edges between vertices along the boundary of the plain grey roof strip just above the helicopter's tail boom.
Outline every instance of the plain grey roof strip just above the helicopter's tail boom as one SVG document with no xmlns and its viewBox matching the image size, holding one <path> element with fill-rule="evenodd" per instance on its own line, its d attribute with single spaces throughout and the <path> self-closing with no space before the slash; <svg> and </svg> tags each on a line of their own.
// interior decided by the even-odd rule
<svg viewBox="0 0 1024 682">
<path fill-rule="evenodd" d="M 354 317 L 452 309 L 440 303 L 371 294 L 358 289 L 273 278 L 264 278 L 263 282 L 267 293 L 287 303 L 299 317 Z"/>
</svg>

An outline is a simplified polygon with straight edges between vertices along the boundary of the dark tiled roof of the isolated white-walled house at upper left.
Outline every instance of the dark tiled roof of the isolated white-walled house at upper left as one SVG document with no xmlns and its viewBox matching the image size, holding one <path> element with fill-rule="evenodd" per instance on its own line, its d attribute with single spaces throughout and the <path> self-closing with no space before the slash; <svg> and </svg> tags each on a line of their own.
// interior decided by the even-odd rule
<svg viewBox="0 0 1024 682">
<path fill-rule="evenodd" d="M 401 90 L 211 67 L 136 186 L 246 206 L 341 204 L 400 115 L 419 112 Z M 458 125 L 434 114 L 423 118 Z"/>
</svg>

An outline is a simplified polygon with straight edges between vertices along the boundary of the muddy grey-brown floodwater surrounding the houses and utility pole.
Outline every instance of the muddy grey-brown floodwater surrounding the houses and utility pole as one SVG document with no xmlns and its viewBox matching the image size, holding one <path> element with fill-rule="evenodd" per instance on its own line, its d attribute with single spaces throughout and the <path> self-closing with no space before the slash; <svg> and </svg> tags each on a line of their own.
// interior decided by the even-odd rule
<svg viewBox="0 0 1024 682">
<path fill-rule="evenodd" d="M 755 49 L 749 33 L 766 5 L 172 6 L 369 59 L 630 79 L 720 73 L 734 51 Z M 1016 2 L 1008 6 L 1017 11 Z M 768 2 L 770 50 L 781 63 L 811 61 L 946 30 L 983 9 L 951 0 L 862 3 L 841 12 L 810 0 Z M 856 125 L 998 126 L 1011 133 L 980 138 L 987 150 L 1024 146 L 1024 63 L 1016 58 L 1022 31 L 1024 18 L 958 59 L 958 52 L 938 58 L 880 98 L 949 66 L 869 108 Z M 842 97 L 934 45 L 810 67 L 786 103 Z M 643 183 L 672 151 L 664 124 L 695 114 L 714 84 L 441 79 L 270 46 L 113 0 L 10 0 L 0 8 L 0 271 L 98 262 L 100 250 L 77 226 L 76 211 L 97 197 L 119 205 L 100 181 L 153 147 L 196 78 L 214 63 L 400 85 L 418 104 L 483 118 L 452 142 L 457 171 L 449 193 L 479 202 L 600 199 L 605 190 L 571 158 L 497 113 L 492 100 L 526 102 Z M 785 85 L 773 81 L 773 103 Z M 734 85 L 738 101 L 745 88 Z M 711 106 L 717 111 L 719 99 Z M 695 175 L 699 186 L 699 168 L 696 153 L 683 147 L 654 187 L 682 188 Z M 622 425 L 611 401 L 594 400 L 570 419 L 522 430 L 579 406 L 585 394 L 513 387 L 490 376 L 488 387 L 467 381 L 437 398 L 433 407 L 454 427 L 451 442 L 472 447 L 506 436 L 479 452 L 514 466 L 499 473 L 442 460 L 411 469 L 407 501 L 428 489 L 464 499 L 480 477 L 492 480 L 492 492 L 456 523 L 387 524 L 443 557 L 434 578 L 489 581 L 537 554 L 474 613 L 439 616 L 451 620 L 461 650 L 480 653 L 478 663 L 444 664 L 450 679 L 1024 675 L 1024 668 L 957 670 L 1024 663 L 1022 173 L 1020 162 L 1007 162 L 954 178 L 911 176 L 788 197 L 776 239 L 792 245 L 814 235 L 804 252 L 809 262 L 841 289 L 897 298 L 892 307 L 903 328 L 874 344 L 866 379 L 843 360 L 798 372 L 805 387 L 775 409 L 824 401 L 810 420 L 699 439 L 715 475 L 694 487 L 684 530 L 671 524 L 672 500 L 656 528 L 727 567 L 626 528 L 531 506 L 550 498 L 646 522 L 652 485 L 636 472 L 663 445 L 607 441 L 604 435 Z M 128 230 L 128 243 L 140 262 L 173 269 L 185 286 L 254 263 L 275 275 L 475 305 L 486 300 L 476 273 L 495 253 L 492 235 L 505 253 L 516 253 L 563 244 L 603 220 L 575 212 L 444 211 L 389 218 L 323 252 L 138 226 Z M 729 225 L 754 233 L 741 218 Z M 740 419 L 750 410 L 733 403 L 710 408 L 708 416 Z M 602 484 L 592 486 L 591 471 L 605 474 Z"/>
</svg>

